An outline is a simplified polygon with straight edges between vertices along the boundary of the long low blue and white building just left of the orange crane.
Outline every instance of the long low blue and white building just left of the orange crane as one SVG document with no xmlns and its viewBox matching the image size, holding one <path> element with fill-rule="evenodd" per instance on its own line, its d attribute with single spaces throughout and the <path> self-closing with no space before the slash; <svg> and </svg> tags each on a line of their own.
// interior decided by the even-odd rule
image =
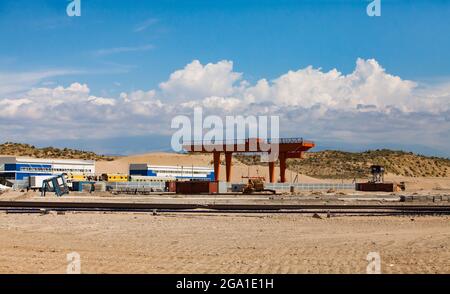
<svg viewBox="0 0 450 294">
<path fill-rule="evenodd" d="M 198 166 L 159 166 L 149 164 L 130 164 L 130 177 L 147 177 L 158 180 L 203 180 L 214 181 L 214 169 Z"/>
</svg>

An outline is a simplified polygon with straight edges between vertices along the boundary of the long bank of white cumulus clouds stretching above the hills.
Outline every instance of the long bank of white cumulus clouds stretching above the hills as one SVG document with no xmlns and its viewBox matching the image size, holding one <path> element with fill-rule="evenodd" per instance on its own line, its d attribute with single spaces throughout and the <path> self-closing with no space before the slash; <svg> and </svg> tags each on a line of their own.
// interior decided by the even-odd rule
<svg viewBox="0 0 450 294">
<path fill-rule="evenodd" d="M 2 87 L 20 85 L 3 81 Z M 20 141 L 54 135 L 55 126 L 75 139 L 170 134 L 171 119 L 191 115 L 194 107 L 203 107 L 205 115 L 278 115 L 283 136 L 410 145 L 421 137 L 441 149 L 450 143 L 450 83 L 405 80 L 375 59 L 358 59 L 349 74 L 308 66 L 253 84 L 231 61 L 194 60 L 157 89 L 119 97 L 94 95 L 76 82 L 30 88 L 17 97 L 0 95 L 0 130 Z"/>
</svg>

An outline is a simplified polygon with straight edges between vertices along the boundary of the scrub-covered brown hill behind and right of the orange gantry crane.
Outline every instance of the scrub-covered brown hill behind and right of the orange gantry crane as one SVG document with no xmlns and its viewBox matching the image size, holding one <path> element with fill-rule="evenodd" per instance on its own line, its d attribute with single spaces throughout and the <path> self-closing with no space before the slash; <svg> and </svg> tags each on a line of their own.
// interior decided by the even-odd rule
<svg viewBox="0 0 450 294">
<path fill-rule="evenodd" d="M 244 164 L 262 164 L 258 156 L 236 156 Z M 317 178 L 366 178 L 372 164 L 383 165 L 391 174 L 407 177 L 448 177 L 450 159 L 412 152 L 370 150 L 366 152 L 320 151 L 305 153 L 303 159 L 289 159 L 290 170 Z"/>
</svg>

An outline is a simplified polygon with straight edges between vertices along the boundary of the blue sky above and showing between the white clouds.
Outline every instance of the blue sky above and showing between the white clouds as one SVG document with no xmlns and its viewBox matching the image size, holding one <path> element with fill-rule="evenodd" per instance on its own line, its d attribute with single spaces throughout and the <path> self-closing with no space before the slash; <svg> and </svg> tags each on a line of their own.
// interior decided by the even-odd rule
<svg viewBox="0 0 450 294">
<path fill-rule="evenodd" d="M 448 100 L 444 94 L 450 82 L 450 1 L 382 0 L 380 17 L 367 16 L 369 1 L 365 0 L 81 0 L 81 17 L 66 15 L 68 3 L 66 0 L 0 2 L 0 73 L 17 75 L 25 81 L 19 85 L 17 82 L 0 82 L 0 99 L 24 99 L 29 97 L 24 93 L 33 88 L 67 88 L 73 83 L 87 85 L 89 95 L 113 99 L 119 99 L 121 93 L 131 95 L 140 90 L 156 89 L 158 92 L 160 83 L 168 81 L 172 73 L 194 60 L 199 60 L 202 65 L 232 61 L 232 72 L 242 73 L 241 80 L 236 83 L 245 80 L 256 85 L 261 79 L 273 81 L 289 71 L 308 66 L 320 68 L 321 73 L 337 69 L 342 75 L 349 75 L 355 71 L 360 58 L 376 60 L 388 74 L 400 77 L 402 81 L 414 81 L 417 85 L 410 95 L 420 94 L 426 99 L 439 92 L 439 103 L 444 103 L 441 109 L 447 110 Z M 30 78 L 31 74 L 38 77 Z M 421 88 L 428 92 L 417 94 Z M 157 93 L 156 96 L 164 103 L 164 95 Z M 228 96 L 224 94 L 224 97 Z M 401 103 L 396 104 L 398 108 Z M 421 111 L 417 109 L 402 110 L 407 113 L 404 119 L 419 114 Z M 331 110 L 334 109 L 327 111 Z M 448 112 L 436 114 L 433 111 L 429 111 L 433 117 L 427 113 L 421 118 L 442 125 L 437 121 L 448 117 Z M 391 114 L 383 113 L 388 116 L 386 121 L 392 118 Z M 17 116 L 17 112 L 14 115 Z M 14 115 L 0 117 L 0 121 L 11 122 Z M 355 119 L 355 122 L 358 119 L 354 113 L 346 118 Z M 417 122 L 417 118 L 413 121 Z M 432 125 L 432 122 L 425 124 Z M 444 119 L 444 123 L 448 122 Z M 24 123 L 23 127 L 29 125 L 33 123 Z M 388 128 L 389 125 L 379 127 Z M 45 133 L 47 129 L 48 124 L 36 132 Z M 443 147 L 447 141 L 439 139 L 449 135 L 447 131 L 442 129 L 436 137 L 430 137 L 430 140 L 441 141 L 436 142 L 428 153 L 449 155 Z M 426 128 L 418 129 L 416 135 L 427 133 Z M 129 135 L 146 136 L 144 131 Z M 167 133 L 151 130 L 150 135 Z M 356 130 L 350 138 L 341 141 L 336 134 L 329 137 L 315 133 L 307 135 L 332 148 L 383 147 L 379 140 L 386 146 L 399 145 L 418 151 L 424 148 L 413 143 L 412 134 L 402 144 L 385 140 L 392 137 L 388 133 L 363 144 L 352 140 L 358 137 Z M 17 138 L 6 131 L 3 136 L 5 139 Z M 55 143 L 49 138 L 25 133 L 22 137 L 24 142 Z M 104 139 L 108 142 L 105 146 L 83 141 L 73 134 L 67 143 L 86 149 L 91 144 L 97 146 L 98 151 L 110 153 L 145 151 L 140 140 L 129 148 L 117 144 L 119 147 L 108 149 L 106 145 L 111 146 L 114 138 Z M 152 144 L 149 145 L 151 149 Z"/>
</svg>

